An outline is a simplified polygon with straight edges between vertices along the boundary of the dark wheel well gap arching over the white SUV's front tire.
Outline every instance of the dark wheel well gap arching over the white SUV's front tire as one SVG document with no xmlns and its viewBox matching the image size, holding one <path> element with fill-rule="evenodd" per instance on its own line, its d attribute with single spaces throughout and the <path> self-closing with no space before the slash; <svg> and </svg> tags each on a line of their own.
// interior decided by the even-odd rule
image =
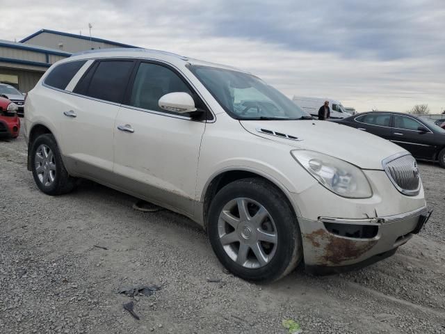
<svg viewBox="0 0 445 334">
<path fill-rule="evenodd" d="M 295 214 L 295 210 L 293 209 L 293 205 L 291 205 L 291 202 L 289 201 L 289 198 L 287 198 L 286 194 L 283 193 L 282 189 L 280 189 L 279 186 L 268 180 L 266 177 L 261 176 L 257 173 L 249 172 L 248 170 L 229 170 L 227 172 L 221 173 L 220 175 L 216 176 L 211 180 L 209 186 L 207 187 L 207 191 L 204 196 L 204 207 L 203 207 L 203 223 L 204 223 L 204 229 L 207 230 L 207 214 L 209 212 L 209 207 L 211 200 L 216 196 L 218 191 L 223 189 L 224 186 L 227 186 L 227 184 L 232 183 L 236 180 L 241 179 L 247 179 L 250 177 L 255 177 L 257 179 L 264 180 L 270 184 L 270 186 L 275 187 L 278 191 L 280 191 L 284 198 L 286 198 L 289 207 L 291 207 L 292 211 Z"/>
</svg>

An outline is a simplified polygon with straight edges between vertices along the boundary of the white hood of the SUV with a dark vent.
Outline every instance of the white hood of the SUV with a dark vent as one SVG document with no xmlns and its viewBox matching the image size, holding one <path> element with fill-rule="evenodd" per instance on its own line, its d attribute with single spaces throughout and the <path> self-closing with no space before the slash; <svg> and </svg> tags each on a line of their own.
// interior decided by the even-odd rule
<svg viewBox="0 0 445 334">
<path fill-rule="evenodd" d="M 256 136 L 279 141 L 295 148 L 328 154 L 363 169 L 382 170 L 383 159 L 405 151 L 400 146 L 373 134 L 324 120 L 240 120 L 240 122 L 244 129 Z M 258 129 L 278 132 L 288 137 L 260 132 Z"/>
</svg>

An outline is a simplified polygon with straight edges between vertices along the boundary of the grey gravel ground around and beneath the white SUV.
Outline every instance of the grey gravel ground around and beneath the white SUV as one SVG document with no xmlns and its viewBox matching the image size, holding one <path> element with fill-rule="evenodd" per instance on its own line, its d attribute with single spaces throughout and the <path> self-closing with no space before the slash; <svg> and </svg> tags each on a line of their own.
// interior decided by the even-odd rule
<svg viewBox="0 0 445 334">
<path fill-rule="evenodd" d="M 223 271 L 187 218 L 135 211 L 135 198 L 92 182 L 45 196 L 23 137 L 0 141 L 0 333 L 286 333 L 282 319 L 303 333 L 445 333 L 445 170 L 419 165 L 435 212 L 396 255 L 253 285 Z M 162 289 L 117 293 L 150 284 Z M 131 300 L 140 320 L 122 308 Z"/>
</svg>

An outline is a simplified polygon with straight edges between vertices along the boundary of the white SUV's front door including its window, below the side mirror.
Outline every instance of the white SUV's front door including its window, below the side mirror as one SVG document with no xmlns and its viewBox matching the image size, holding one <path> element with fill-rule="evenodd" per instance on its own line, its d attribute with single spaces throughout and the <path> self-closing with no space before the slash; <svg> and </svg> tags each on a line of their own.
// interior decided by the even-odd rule
<svg viewBox="0 0 445 334">
<path fill-rule="evenodd" d="M 115 120 L 116 182 L 135 196 L 191 214 L 206 123 L 165 111 L 158 102 L 168 93 L 194 96 L 192 90 L 180 74 L 160 63 L 141 62 L 133 78 L 127 105 Z"/>
</svg>

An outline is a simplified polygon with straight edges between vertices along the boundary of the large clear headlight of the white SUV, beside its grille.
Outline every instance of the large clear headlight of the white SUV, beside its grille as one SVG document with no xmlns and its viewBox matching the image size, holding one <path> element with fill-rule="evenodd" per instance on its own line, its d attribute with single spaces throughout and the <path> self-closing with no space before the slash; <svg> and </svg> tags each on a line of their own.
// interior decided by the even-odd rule
<svg viewBox="0 0 445 334">
<path fill-rule="evenodd" d="M 337 195 L 348 198 L 373 195 L 371 185 L 357 166 L 314 151 L 294 150 L 291 154 L 318 182 Z"/>
</svg>

